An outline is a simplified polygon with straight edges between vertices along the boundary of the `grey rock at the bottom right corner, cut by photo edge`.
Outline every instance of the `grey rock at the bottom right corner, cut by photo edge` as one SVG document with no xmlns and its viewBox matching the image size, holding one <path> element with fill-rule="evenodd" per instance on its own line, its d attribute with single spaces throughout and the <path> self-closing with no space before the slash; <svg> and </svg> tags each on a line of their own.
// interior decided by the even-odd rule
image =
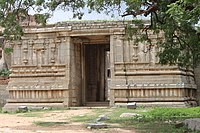
<svg viewBox="0 0 200 133">
<path fill-rule="evenodd" d="M 200 118 L 186 119 L 184 124 L 193 131 L 200 131 Z"/>
</svg>

